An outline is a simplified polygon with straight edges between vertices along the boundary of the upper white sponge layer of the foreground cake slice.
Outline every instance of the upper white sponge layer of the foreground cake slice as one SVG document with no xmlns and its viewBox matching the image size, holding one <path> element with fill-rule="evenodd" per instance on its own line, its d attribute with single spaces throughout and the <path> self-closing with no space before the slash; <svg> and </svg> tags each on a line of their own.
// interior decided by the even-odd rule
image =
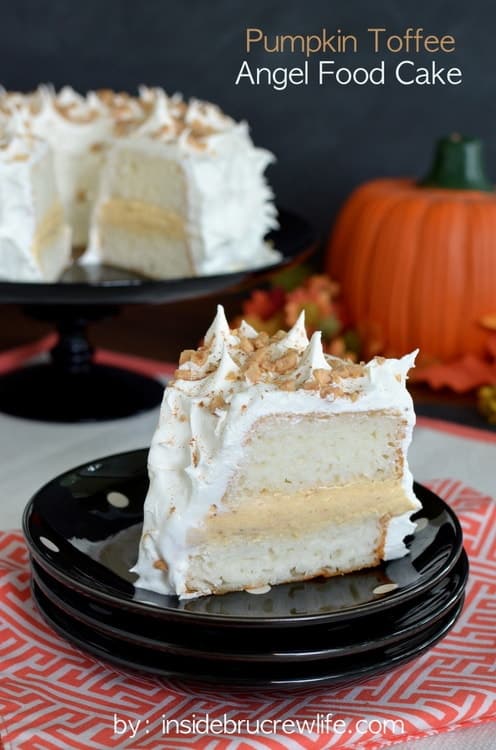
<svg viewBox="0 0 496 750">
<path fill-rule="evenodd" d="M 246 438 L 225 500 L 400 478 L 405 426 L 400 414 L 382 412 L 266 418 Z"/>
</svg>

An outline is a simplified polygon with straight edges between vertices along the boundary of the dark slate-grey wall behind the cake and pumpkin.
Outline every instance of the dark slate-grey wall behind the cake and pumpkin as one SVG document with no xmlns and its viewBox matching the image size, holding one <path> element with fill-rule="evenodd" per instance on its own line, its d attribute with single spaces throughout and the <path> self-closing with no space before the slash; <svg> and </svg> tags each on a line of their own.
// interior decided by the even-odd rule
<svg viewBox="0 0 496 750">
<path fill-rule="evenodd" d="M 278 201 L 325 230 L 359 182 L 420 175 L 433 140 L 452 131 L 486 140 L 496 178 L 496 6 L 492 0 L 15 0 L 1 3 L 0 80 L 133 90 L 142 82 L 218 102 L 246 118 L 254 140 L 278 157 L 269 178 Z M 436 55 L 463 69 L 460 86 L 236 87 L 244 29 L 317 33 L 340 27 L 365 42 L 368 26 L 453 34 L 457 51 Z M 365 49 L 341 65 L 377 64 Z M 433 56 L 389 55 L 419 64 Z M 299 55 L 252 53 L 253 66 L 301 64 Z"/>
</svg>

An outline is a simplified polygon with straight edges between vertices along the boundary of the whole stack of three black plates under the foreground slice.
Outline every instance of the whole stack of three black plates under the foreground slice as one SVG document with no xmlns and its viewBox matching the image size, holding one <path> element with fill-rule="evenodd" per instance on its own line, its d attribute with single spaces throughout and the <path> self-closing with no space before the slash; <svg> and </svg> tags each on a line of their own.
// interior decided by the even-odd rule
<svg viewBox="0 0 496 750">
<path fill-rule="evenodd" d="M 33 595 L 80 648 L 167 678 L 249 688 L 341 686 L 422 654 L 455 624 L 468 561 L 453 511 L 416 485 L 410 554 L 378 568 L 263 594 L 180 601 L 129 573 L 148 486 L 146 451 L 57 477 L 23 520 Z"/>
</svg>

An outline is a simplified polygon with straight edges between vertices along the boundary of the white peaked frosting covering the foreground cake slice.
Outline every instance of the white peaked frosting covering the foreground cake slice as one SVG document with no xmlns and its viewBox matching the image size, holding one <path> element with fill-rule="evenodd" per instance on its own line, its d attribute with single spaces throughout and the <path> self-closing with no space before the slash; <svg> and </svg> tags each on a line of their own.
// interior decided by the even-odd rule
<svg viewBox="0 0 496 750">
<path fill-rule="evenodd" d="M 231 331 L 219 307 L 205 336 L 205 361 L 195 362 L 198 358 L 193 356 L 180 366 L 176 380 L 165 390 L 149 453 L 150 488 L 138 562 L 133 568 L 139 576 L 139 587 L 188 597 L 188 532 L 202 523 L 211 505 L 222 508 L 222 498 L 243 458 L 244 439 L 262 417 L 394 409 L 407 423 L 403 445 L 406 456 L 415 415 L 405 382 L 416 352 L 402 359 L 374 359 L 361 368 L 359 377 L 356 373 L 345 377 L 339 391 L 322 396 L 318 390 L 305 390 L 302 384 L 316 371 L 345 363 L 324 354 L 320 333 L 308 341 L 303 315 L 284 338 L 270 344 L 271 359 L 295 350 L 298 354 L 297 366 L 290 375 L 296 388 L 291 392 L 283 390 L 286 375 L 269 373 L 263 380 L 252 382 L 248 370 L 244 377 L 236 377 L 243 356 L 248 357 L 240 352 L 241 337 L 256 336 L 246 323 L 237 333 Z M 192 379 L 185 379 L 185 371 Z M 413 507 L 419 508 L 412 483 L 406 467 L 404 490 Z M 406 554 L 403 539 L 415 528 L 409 520 L 411 512 L 390 526 L 386 558 Z M 153 567 L 158 559 L 167 562 L 167 572 Z"/>
</svg>

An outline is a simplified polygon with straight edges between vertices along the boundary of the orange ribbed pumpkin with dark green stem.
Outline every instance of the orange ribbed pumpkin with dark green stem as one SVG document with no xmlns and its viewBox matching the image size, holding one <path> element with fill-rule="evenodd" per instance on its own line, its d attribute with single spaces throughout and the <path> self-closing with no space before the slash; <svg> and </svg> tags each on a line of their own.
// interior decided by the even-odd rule
<svg viewBox="0 0 496 750">
<path fill-rule="evenodd" d="M 484 353 L 481 320 L 496 312 L 496 194 L 481 148 L 443 139 L 425 180 L 368 182 L 338 216 L 327 271 L 355 325 L 387 356 Z"/>
</svg>

